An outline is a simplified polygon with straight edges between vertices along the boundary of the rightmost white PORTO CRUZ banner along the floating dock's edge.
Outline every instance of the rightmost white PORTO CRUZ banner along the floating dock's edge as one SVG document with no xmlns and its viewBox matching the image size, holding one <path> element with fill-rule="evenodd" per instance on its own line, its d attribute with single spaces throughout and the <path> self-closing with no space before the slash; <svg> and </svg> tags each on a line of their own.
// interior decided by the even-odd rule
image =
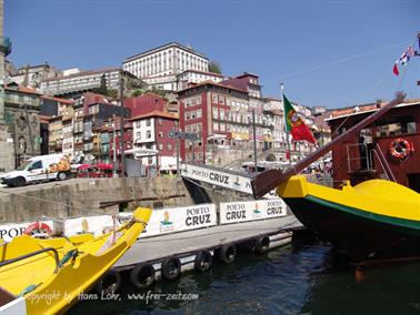
<svg viewBox="0 0 420 315">
<path fill-rule="evenodd" d="M 220 224 L 279 217 L 286 214 L 287 206 L 281 199 L 220 204 Z"/>
</svg>

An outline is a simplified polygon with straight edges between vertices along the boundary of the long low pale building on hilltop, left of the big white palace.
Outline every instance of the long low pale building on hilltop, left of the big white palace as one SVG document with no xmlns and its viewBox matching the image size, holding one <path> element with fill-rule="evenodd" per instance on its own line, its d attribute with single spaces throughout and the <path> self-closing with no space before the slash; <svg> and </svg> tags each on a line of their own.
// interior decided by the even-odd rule
<svg viewBox="0 0 420 315">
<path fill-rule="evenodd" d="M 41 91 L 48 95 L 74 95 L 100 88 L 104 77 L 107 88 L 116 90 L 119 88 L 121 77 L 137 80 L 130 72 L 119 68 L 82 71 L 69 75 L 46 79 L 41 82 Z"/>
</svg>

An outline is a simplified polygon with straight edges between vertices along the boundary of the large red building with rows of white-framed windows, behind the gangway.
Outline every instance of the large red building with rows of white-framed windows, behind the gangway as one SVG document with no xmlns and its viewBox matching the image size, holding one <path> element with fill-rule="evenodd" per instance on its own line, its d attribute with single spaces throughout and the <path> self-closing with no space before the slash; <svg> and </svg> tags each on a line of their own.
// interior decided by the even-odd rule
<svg viewBox="0 0 420 315">
<path fill-rule="evenodd" d="M 272 132 L 269 116 L 259 106 L 262 102 L 253 99 L 253 106 L 250 105 L 247 84 L 239 89 L 233 84 L 226 85 L 224 81 L 206 81 L 180 91 L 179 100 L 181 129 L 198 133 L 201 138 L 196 143 L 181 141 L 182 159 L 191 161 L 194 158 L 207 164 L 218 163 L 214 161 L 214 152 L 208 150 L 211 144 L 209 141 L 219 139 L 221 144 L 244 152 L 251 149 L 253 123 L 259 150 L 263 149 L 264 131 Z M 230 159 L 233 158 L 231 152 L 226 158 L 229 159 L 229 155 Z"/>
</svg>

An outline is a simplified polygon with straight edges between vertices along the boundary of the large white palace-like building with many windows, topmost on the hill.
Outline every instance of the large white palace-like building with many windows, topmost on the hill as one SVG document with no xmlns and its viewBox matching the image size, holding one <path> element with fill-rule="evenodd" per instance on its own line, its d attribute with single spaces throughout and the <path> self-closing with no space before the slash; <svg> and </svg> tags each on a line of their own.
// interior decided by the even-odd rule
<svg viewBox="0 0 420 315">
<path fill-rule="evenodd" d="M 177 75 L 186 70 L 209 71 L 209 59 L 190 47 L 171 42 L 127 58 L 123 69 L 149 85 L 177 91 Z"/>
</svg>

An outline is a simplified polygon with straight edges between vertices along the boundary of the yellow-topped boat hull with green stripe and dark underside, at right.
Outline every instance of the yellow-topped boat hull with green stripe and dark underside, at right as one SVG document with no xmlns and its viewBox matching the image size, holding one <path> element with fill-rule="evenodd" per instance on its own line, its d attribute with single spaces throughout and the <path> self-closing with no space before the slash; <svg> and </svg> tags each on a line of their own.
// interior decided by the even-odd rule
<svg viewBox="0 0 420 315">
<path fill-rule="evenodd" d="M 372 180 L 341 190 L 292 176 L 277 189 L 302 224 L 353 261 L 420 255 L 420 194 Z"/>
</svg>

